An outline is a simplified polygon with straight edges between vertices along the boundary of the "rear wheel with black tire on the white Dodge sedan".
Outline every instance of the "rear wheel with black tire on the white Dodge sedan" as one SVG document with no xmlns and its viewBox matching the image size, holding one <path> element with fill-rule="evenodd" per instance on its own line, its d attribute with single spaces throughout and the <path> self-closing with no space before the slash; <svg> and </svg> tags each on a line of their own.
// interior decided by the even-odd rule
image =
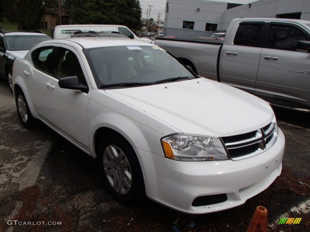
<svg viewBox="0 0 310 232">
<path fill-rule="evenodd" d="M 23 124 L 23 126 L 26 128 L 33 127 L 35 118 L 33 118 L 29 110 L 28 103 L 26 101 L 23 91 L 21 90 L 16 91 L 15 102 L 16 102 L 17 114 L 21 124 Z"/>
</svg>

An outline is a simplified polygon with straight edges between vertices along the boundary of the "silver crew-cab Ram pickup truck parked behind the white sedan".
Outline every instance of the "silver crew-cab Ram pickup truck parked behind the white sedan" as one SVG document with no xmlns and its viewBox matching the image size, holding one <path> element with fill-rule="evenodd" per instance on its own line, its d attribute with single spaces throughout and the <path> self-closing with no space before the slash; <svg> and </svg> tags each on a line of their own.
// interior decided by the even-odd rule
<svg viewBox="0 0 310 232">
<path fill-rule="evenodd" d="M 310 21 L 233 19 L 224 41 L 157 38 L 198 75 L 310 112 Z"/>
</svg>

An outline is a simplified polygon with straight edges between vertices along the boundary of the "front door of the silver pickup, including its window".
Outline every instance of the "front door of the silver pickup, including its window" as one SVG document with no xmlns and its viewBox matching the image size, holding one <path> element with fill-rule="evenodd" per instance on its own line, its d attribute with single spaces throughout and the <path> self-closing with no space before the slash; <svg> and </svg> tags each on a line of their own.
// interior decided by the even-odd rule
<svg viewBox="0 0 310 232">
<path fill-rule="evenodd" d="M 273 104 L 284 101 L 289 107 L 303 107 L 310 102 L 310 54 L 296 49 L 300 40 L 310 37 L 298 24 L 268 25 L 255 92 Z"/>
</svg>

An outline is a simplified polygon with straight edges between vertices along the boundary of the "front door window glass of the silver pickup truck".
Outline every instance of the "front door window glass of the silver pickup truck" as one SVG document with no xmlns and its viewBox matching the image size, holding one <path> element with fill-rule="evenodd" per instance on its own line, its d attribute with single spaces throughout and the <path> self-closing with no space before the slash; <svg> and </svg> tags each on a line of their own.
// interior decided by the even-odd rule
<svg viewBox="0 0 310 232">
<path fill-rule="evenodd" d="M 287 51 L 296 51 L 300 40 L 309 40 L 309 37 L 300 29 L 290 25 L 271 24 L 268 48 Z"/>
</svg>

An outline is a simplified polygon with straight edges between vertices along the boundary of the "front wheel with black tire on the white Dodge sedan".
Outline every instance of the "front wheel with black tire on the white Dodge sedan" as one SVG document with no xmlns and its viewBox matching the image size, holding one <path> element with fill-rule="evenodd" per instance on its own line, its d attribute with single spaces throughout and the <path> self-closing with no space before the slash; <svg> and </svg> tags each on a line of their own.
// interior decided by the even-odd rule
<svg viewBox="0 0 310 232">
<path fill-rule="evenodd" d="M 141 167 L 127 140 L 117 133 L 108 134 L 100 144 L 98 161 L 104 185 L 117 200 L 125 204 L 144 200 Z"/>
</svg>

